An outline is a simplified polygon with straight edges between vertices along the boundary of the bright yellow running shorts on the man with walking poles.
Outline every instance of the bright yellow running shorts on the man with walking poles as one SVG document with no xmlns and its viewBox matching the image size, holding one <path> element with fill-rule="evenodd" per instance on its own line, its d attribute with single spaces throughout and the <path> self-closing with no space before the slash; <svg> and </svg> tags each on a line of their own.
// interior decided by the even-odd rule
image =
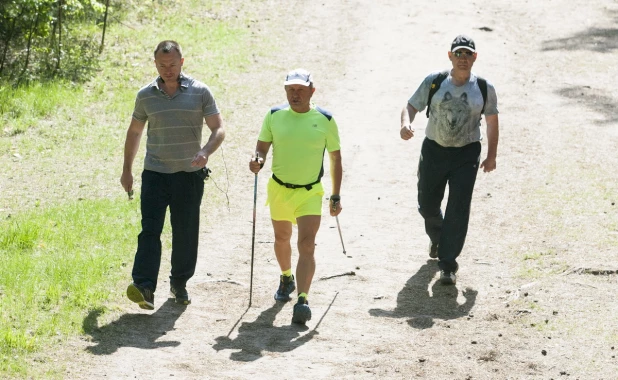
<svg viewBox="0 0 618 380">
<path fill-rule="evenodd" d="M 296 224 L 296 218 L 305 215 L 322 215 L 322 183 L 316 183 L 311 190 L 288 189 L 279 185 L 272 177 L 268 180 L 268 199 L 272 220 L 287 220 Z"/>
</svg>

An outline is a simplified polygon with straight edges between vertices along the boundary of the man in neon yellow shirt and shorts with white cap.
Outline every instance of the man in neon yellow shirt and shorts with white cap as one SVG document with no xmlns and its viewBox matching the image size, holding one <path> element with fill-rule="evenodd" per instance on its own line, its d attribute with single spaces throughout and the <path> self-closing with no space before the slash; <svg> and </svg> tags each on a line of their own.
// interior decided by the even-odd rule
<svg viewBox="0 0 618 380">
<path fill-rule="evenodd" d="M 275 300 L 288 302 L 298 283 L 298 302 L 292 323 L 311 319 L 307 301 L 315 273 L 315 236 L 322 218 L 324 151 L 330 158 L 332 195 L 331 216 L 341 212 L 341 147 L 337 123 L 332 114 L 311 103 L 315 92 L 312 75 L 304 69 L 292 70 L 284 82 L 288 103 L 273 107 L 264 118 L 255 148 L 258 159 L 249 168 L 258 173 L 271 145 L 272 178 L 268 182 L 268 204 L 275 232 L 275 255 L 281 268 Z M 292 224 L 298 225 L 298 264 L 292 275 Z"/>
</svg>

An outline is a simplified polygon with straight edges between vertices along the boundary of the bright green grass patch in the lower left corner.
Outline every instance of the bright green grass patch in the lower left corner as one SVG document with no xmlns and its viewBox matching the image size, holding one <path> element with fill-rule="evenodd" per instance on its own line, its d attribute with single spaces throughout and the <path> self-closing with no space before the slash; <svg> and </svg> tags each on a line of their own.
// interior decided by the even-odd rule
<svg viewBox="0 0 618 380">
<path fill-rule="evenodd" d="M 0 373 L 27 373 L 27 354 L 82 333 L 128 278 L 139 221 L 135 203 L 103 199 L 0 223 Z"/>
</svg>

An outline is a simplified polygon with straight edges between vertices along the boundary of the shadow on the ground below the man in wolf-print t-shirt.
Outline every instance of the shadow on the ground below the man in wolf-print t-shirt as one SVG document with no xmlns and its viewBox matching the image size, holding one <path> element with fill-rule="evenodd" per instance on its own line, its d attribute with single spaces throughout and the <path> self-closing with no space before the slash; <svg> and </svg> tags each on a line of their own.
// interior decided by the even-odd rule
<svg viewBox="0 0 618 380">
<path fill-rule="evenodd" d="M 467 316 L 474 306 L 478 291 L 470 288 L 463 290 L 465 302 L 459 304 L 457 287 L 445 286 L 436 281 L 430 294 L 429 284 L 438 271 L 437 262 L 427 260 L 397 295 L 395 309 L 371 309 L 369 314 L 374 317 L 408 318 L 408 324 L 417 329 L 432 327 L 436 319 L 450 320 Z"/>
</svg>

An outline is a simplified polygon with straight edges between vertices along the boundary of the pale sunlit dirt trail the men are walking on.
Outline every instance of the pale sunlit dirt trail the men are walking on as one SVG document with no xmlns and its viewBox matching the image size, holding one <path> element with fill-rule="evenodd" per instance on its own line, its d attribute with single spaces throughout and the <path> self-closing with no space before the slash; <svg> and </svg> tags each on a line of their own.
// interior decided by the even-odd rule
<svg viewBox="0 0 618 380">
<path fill-rule="evenodd" d="M 616 275 L 569 273 L 618 269 L 618 178 L 610 170 L 618 164 L 618 94 L 609 80 L 618 71 L 618 5 L 324 3 L 298 2 L 302 22 L 263 30 L 286 36 L 289 53 L 266 57 L 272 62 L 253 76 L 273 83 L 256 98 L 264 104 L 229 121 L 229 135 L 240 136 L 227 162 L 231 209 L 205 200 L 216 222 L 204 228 L 193 304 L 166 301 L 162 283 L 154 313 L 121 305 L 118 320 L 75 343 L 67 378 L 616 378 Z M 477 42 L 474 71 L 497 88 L 502 128 L 498 169 L 477 180 L 458 285 L 443 287 L 416 212 L 425 118 L 417 117 L 410 142 L 399 139 L 398 125 L 423 77 L 448 67 L 449 43 L 462 32 Z M 272 299 L 268 172 L 259 176 L 247 309 L 253 176 L 245 157 L 263 113 L 283 100 L 280 76 L 294 66 L 314 72 L 314 100 L 335 114 L 345 170 L 347 255 L 325 216 L 306 328 L 290 325 L 291 304 Z M 239 126 L 246 118 L 251 130 Z"/>
</svg>

